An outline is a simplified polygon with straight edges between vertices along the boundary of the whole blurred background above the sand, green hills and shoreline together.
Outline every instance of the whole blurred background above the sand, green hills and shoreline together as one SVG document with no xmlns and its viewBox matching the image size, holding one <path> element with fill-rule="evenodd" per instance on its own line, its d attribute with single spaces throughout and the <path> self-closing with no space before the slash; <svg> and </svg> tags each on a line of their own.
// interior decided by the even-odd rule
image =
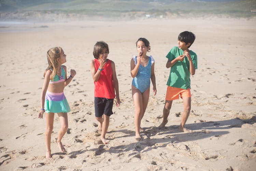
<svg viewBox="0 0 256 171">
<path fill-rule="evenodd" d="M 1 21 L 253 17 L 255 0 L 0 0 Z"/>
</svg>

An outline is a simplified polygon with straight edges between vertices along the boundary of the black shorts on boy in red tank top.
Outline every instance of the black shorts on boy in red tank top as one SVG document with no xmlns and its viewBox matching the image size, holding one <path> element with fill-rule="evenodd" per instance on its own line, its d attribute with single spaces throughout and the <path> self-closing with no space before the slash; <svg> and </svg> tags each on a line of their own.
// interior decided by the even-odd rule
<svg viewBox="0 0 256 171">
<path fill-rule="evenodd" d="M 95 117 L 101 117 L 103 114 L 110 116 L 113 114 L 114 99 L 104 97 L 94 97 Z"/>
</svg>

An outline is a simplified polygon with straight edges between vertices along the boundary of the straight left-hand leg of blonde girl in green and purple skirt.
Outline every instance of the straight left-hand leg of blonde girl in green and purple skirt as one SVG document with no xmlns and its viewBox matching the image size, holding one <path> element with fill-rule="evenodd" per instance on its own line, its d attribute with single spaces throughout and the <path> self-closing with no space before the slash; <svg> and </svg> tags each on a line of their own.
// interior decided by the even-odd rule
<svg viewBox="0 0 256 171">
<path fill-rule="evenodd" d="M 45 158 L 51 158 L 51 135 L 53 131 L 54 113 L 45 113 L 46 118 L 46 130 L 45 130 L 45 146 L 46 155 Z"/>
</svg>

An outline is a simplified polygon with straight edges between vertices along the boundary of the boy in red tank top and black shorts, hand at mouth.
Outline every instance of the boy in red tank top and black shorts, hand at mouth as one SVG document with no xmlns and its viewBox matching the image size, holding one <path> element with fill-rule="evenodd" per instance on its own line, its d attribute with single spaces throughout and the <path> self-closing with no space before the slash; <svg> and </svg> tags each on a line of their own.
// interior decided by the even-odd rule
<svg viewBox="0 0 256 171">
<path fill-rule="evenodd" d="M 108 144 L 105 138 L 109 127 L 109 118 L 113 114 L 112 107 L 116 97 L 116 106 L 119 107 L 119 89 L 116 77 L 115 63 L 107 59 L 109 46 L 105 42 L 97 42 L 94 45 L 94 58 L 90 62 L 91 75 L 94 81 L 94 107 L 95 117 L 99 122 L 98 130 L 103 144 Z M 116 92 L 116 96 L 115 96 Z"/>
</svg>

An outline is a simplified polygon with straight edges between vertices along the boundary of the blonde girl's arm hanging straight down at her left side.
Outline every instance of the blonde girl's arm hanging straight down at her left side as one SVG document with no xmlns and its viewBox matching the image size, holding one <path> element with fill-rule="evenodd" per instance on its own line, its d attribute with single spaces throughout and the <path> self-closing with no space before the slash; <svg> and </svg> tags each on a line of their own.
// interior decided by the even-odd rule
<svg viewBox="0 0 256 171">
<path fill-rule="evenodd" d="M 40 112 L 38 113 L 38 118 L 43 118 L 45 94 L 46 94 L 46 91 L 47 91 L 47 88 L 48 88 L 48 85 L 50 82 L 51 73 L 52 73 L 51 70 L 47 70 L 44 75 L 44 83 L 43 83 L 42 93 L 41 93 L 41 109 L 40 109 Z"/>
</svg>

